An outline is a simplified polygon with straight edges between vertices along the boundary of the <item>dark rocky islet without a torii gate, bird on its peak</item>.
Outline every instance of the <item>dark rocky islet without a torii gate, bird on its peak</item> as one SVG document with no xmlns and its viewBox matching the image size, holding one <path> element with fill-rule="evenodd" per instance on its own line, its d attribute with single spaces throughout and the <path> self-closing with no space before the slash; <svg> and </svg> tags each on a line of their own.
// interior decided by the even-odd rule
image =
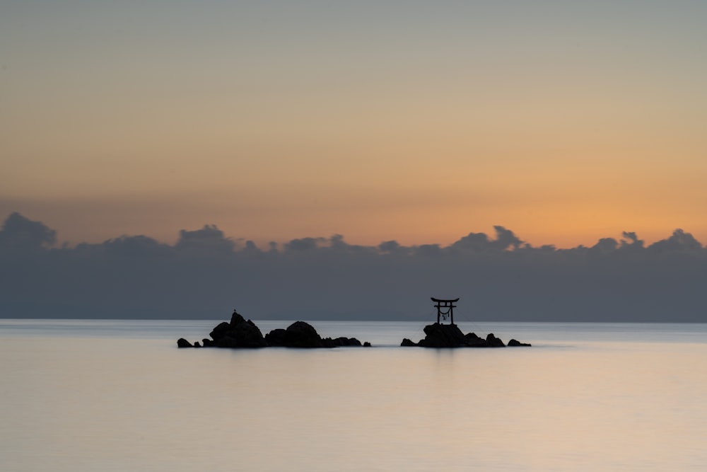
<svg viewBox="0 0 707 472">
<path fill-rule="evenodd" d="M 370 347 L 370 343 L 361 344 L 356 338 L 322 338 L 317 330 L 304 321 L 295 321 L 287 329 L 277 328 L 271 330 L 267 335 L 262 335 L 260 328 L 251 320 L 245 320 L 238 312 L 233 311 L 230 323 L 223 321 L 209 333 L 211 339 L 204 338 L 192 344 L 184 338 L 177 340 L 177 347 L 230 347 L 257 349 L 258 347 L 342 347 L 342 346 L 364 346 Z"/>
</svg>

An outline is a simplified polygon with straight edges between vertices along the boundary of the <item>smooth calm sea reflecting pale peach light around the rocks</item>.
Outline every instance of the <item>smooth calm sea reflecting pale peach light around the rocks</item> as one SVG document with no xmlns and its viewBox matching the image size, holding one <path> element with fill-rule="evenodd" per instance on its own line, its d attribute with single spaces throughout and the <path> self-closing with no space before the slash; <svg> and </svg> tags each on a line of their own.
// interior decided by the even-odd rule
<svg viewBox="0 0 707 472">
<path fill-rule="evenodd" d="M 1 471 L 703 471 L 707 324 L 460 323 L 530 348 L 177 350 L 218 321 L 0 320 Z M 265 333 L 284 321 L 257 321 Z"/>
</svg>

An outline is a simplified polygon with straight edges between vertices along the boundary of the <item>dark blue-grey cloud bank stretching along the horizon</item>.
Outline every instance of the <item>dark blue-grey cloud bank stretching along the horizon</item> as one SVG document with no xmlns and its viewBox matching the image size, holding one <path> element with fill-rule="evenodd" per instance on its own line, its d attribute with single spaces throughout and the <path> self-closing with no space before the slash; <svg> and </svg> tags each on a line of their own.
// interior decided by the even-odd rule
<svg viewBox="0 0 707 472">
<path fill-rule="evenodd" d="M 259 248 L 216 226 L 57 244 L 13 213 L 0 231 L 0 317 L 431 319 L 429 297 L 461 297 L 464 321 L 707 322 L 707 249 L 682 230 L 645 246 L 532 247 L 513 231 L 450 246 L 355 246 L 341 236 Z"/>
</svg>

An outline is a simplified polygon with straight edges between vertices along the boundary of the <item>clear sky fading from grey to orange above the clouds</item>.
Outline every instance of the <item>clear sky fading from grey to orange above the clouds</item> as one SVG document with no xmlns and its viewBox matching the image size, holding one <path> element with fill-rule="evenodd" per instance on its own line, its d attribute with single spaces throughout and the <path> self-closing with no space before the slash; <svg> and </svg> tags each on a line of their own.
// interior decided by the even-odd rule
<svg viewBox="0 0 707 472">
<path fill-rule="evenodd" d="M 707 241 L 707 2 L 0 4 L 0 217 L 60 241 Z"/>
</svg>

